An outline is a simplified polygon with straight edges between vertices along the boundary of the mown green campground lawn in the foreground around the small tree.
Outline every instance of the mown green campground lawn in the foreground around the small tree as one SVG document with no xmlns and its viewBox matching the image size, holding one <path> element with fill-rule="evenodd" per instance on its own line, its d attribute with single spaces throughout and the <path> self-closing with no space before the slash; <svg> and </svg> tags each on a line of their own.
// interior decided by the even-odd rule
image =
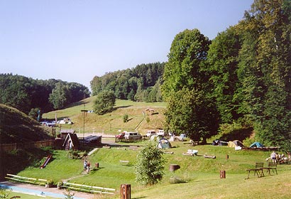
<svg viewBox="0 0 291 199">
<path fill-rule="evenodd" d="M 136 143 L 142 145 L 143 143 Z M 132 198 L 290 198 L 291 165 L 279 165 L 278 175 L 258 178 L 248 176 L 246 169 L 253 168 L 257 161 L 265 162 L 269 151 L 235 151 L 227 146 L 190 146 L 185 142 L 173 142 L 174 154 L 164 154 L 165 176 L 157 185 L 143 187 L 136 183 L 134 165 L 138 151 L 128 147 L 111 147 L 98 149 L 88 160 L 99 163 L 89 174 L 82 171 L 82 160 L 67 158 L 66 151 L 55 151 L 53 161 L 44 169 L 26 168 L 19 176 L 33 178 L 53 178 L 55 182 L 70 179 L 72 183 L 84 183 L 119 191 L 121 184 L 131 184 Z M 187 149 L 198 150 L 199 156 L 182 156 Z M 203 155 L 216 156 L 215 159 L 204 158 Z M 229 158 L 226 159 L 226 154 Z M 128 165 L 120 160 L 129 161 Z M 170 164 L 181 166 L 170 172 Z M 266 163 L 265 163 L 266 164 Z M 226 178 L 221 179 L 220 171 L 226 171 Z M 271 173 L 273 174 L 273 173 Z M 182 183 L 171 183 L 172 179 Z M 256 197 L 255 197 L 256 195 Z M 119 198 L 106 196 L 106 198 Z"/>
</svg>

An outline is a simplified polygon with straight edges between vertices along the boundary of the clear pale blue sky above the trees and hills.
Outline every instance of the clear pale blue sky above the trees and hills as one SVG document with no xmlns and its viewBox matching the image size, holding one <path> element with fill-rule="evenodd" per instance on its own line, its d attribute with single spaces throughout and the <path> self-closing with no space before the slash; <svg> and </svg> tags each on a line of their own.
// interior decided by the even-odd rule
<svg viewBox="0 0 291 199">
<path fill-rule="evenodd" d="M 168 60 L 185 29 L 209 39 L 253 0 L 0 0 L 0 73 L 90 87 L 94 76 Z"/>
</svg>

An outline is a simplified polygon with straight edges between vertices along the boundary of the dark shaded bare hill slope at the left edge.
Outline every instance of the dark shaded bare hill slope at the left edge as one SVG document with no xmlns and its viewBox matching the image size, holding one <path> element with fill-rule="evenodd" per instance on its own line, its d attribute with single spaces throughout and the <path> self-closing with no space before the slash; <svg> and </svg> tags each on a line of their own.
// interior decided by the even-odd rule
<svg viewBox="0 0 291 199">
<path fill-rule="evenodd" d="M 50 129 L 13 107 L 0 104 L 0 143 L 50 139 Z"/>
</svg>

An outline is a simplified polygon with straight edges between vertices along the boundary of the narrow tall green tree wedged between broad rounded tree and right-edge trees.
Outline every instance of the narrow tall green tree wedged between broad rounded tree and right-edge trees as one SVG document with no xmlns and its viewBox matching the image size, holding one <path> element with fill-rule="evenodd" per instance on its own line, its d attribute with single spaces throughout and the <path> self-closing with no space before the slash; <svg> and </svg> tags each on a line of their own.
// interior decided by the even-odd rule
<svg viewBox="0 0 291 199">
<path fill-rule="evenodd" d="M 213 100 L 216 101 L 222 123 L 231 123 L 242 117 L 238 113 L 241 98 L 236 91 L 241 85 L 238 82 L 238 52 L 241 49 L 240 37 L 236 27 L 230 27 L 219 33 L 209 46 L 207 68 L 213 83 Z"/>
</svg>

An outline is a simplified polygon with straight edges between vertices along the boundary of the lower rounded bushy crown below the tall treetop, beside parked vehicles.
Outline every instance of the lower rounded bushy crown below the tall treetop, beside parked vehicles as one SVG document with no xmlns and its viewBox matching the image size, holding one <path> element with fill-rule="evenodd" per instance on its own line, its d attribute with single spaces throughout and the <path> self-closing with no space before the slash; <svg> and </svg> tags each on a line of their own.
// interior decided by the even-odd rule
<svg viewBox="0 0 291 199">
<path fill-rule="evenodd" d="M 183 88 L 168 99 L 165 111 L 167 129 L 177 134 L 187 133 L 194 141 L 202 141 L 216 133 L 218 117 L 215 105 L 198 90 Z"/>
</svg>

